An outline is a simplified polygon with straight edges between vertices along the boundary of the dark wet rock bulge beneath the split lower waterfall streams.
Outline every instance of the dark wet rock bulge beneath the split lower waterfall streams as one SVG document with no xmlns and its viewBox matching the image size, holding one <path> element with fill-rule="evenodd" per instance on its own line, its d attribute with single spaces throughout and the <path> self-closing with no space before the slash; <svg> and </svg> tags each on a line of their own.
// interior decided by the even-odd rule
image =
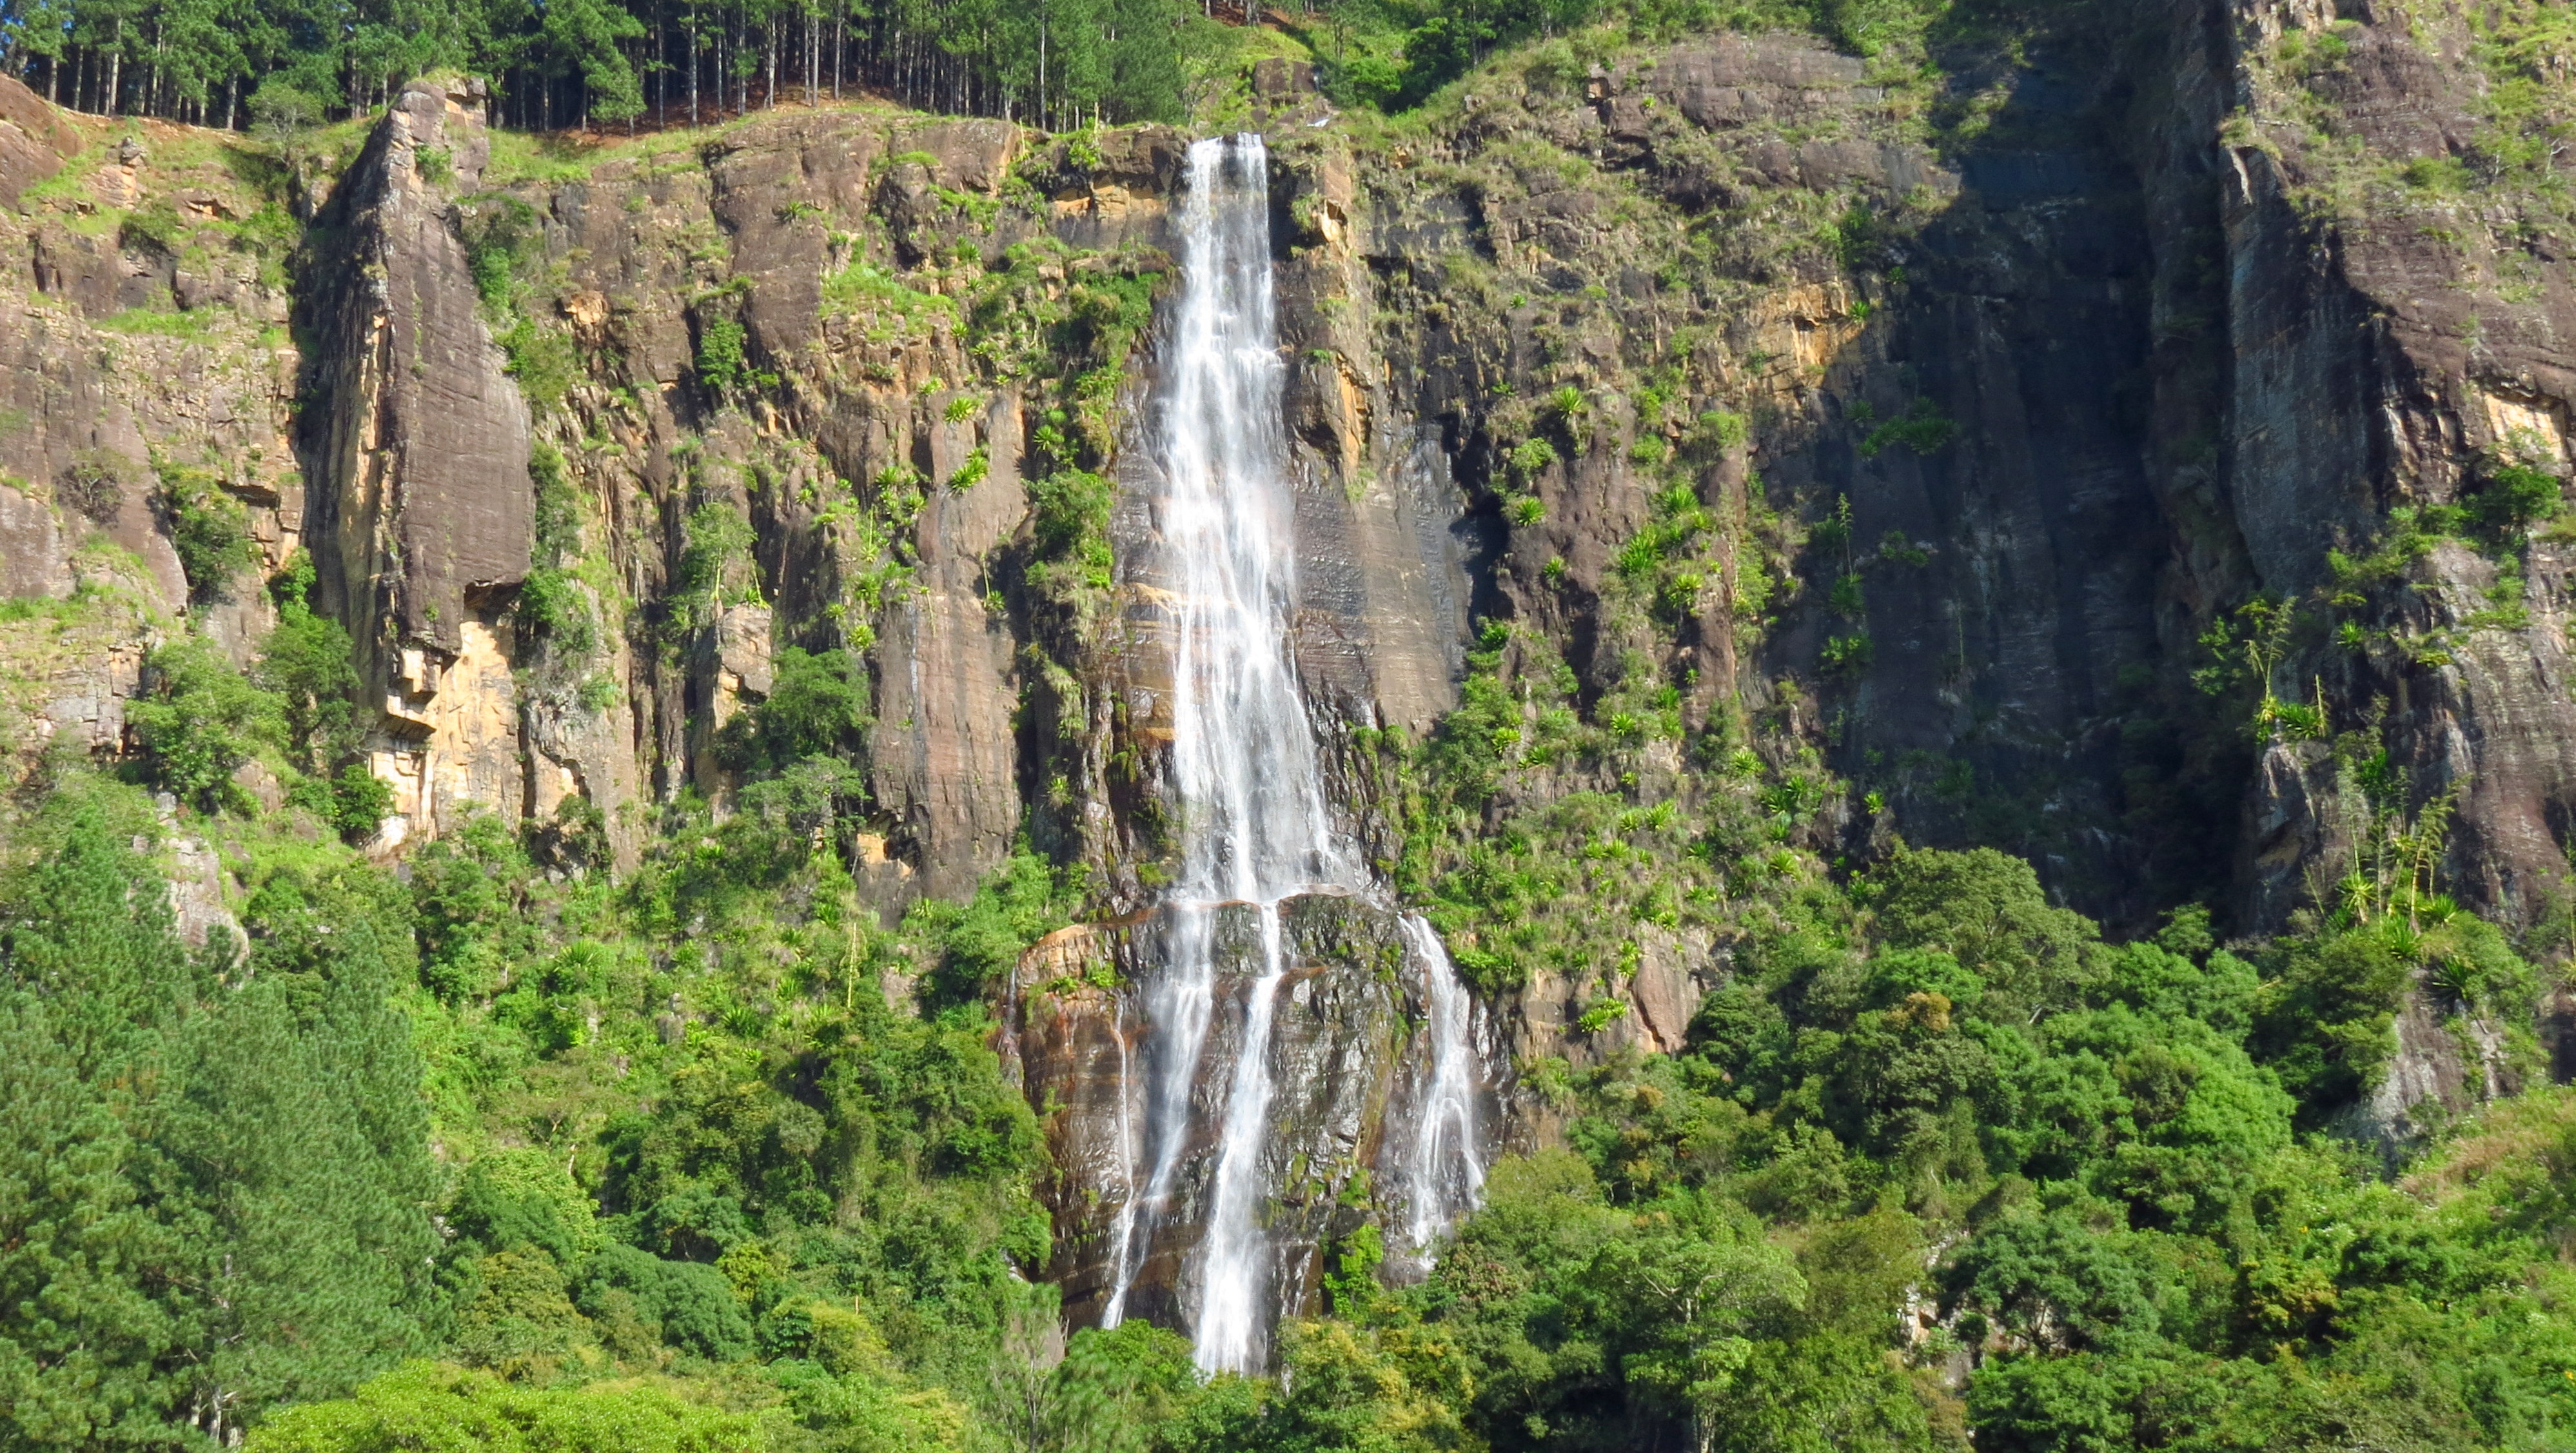
<svg viewBox="0 0 2576 1453">
<path fill-rule="evenodd" d="M 1162 1144 L 1146 1095 L 1167 1069 L 1157 1056 L 1170 1054 L 1172 1036 L 1149 1023 L 1146 1002 L 1172 961 L 1170 912 L 1048 938 L 1023 961 L 1007 1002 L 1005 1049 L 1048 1113 L 1048 1278 L 1064 1288 L 1074 1324 L 1100 1319 L 1121 1270 L 1131 1278 L 1128 1316 L 1188 1327 L 1195 1306 L 1190 1278 L 1262 945 L 1252 904 L 1213 909 L 1213 1015 L 1190 1074 L 1177 1172 L 1170 1193 L 1149 1201 Z M 1275 1000 L 1255 1221 L 1270 1244 L 1270 1311 L 1288 1316 L 1316 1306 L 1334 1237 L 1370 1219 L 1401 1224 L 1432 1054 L 1422 964 L 1409 961 L 1388 909 L 1301 894 L 1280 902 L 1280 933 L 1291 971 Z M 1388 1231 L 1388 1247 L 1404 1257 L 1404 1234 Z"/>
</svg>

